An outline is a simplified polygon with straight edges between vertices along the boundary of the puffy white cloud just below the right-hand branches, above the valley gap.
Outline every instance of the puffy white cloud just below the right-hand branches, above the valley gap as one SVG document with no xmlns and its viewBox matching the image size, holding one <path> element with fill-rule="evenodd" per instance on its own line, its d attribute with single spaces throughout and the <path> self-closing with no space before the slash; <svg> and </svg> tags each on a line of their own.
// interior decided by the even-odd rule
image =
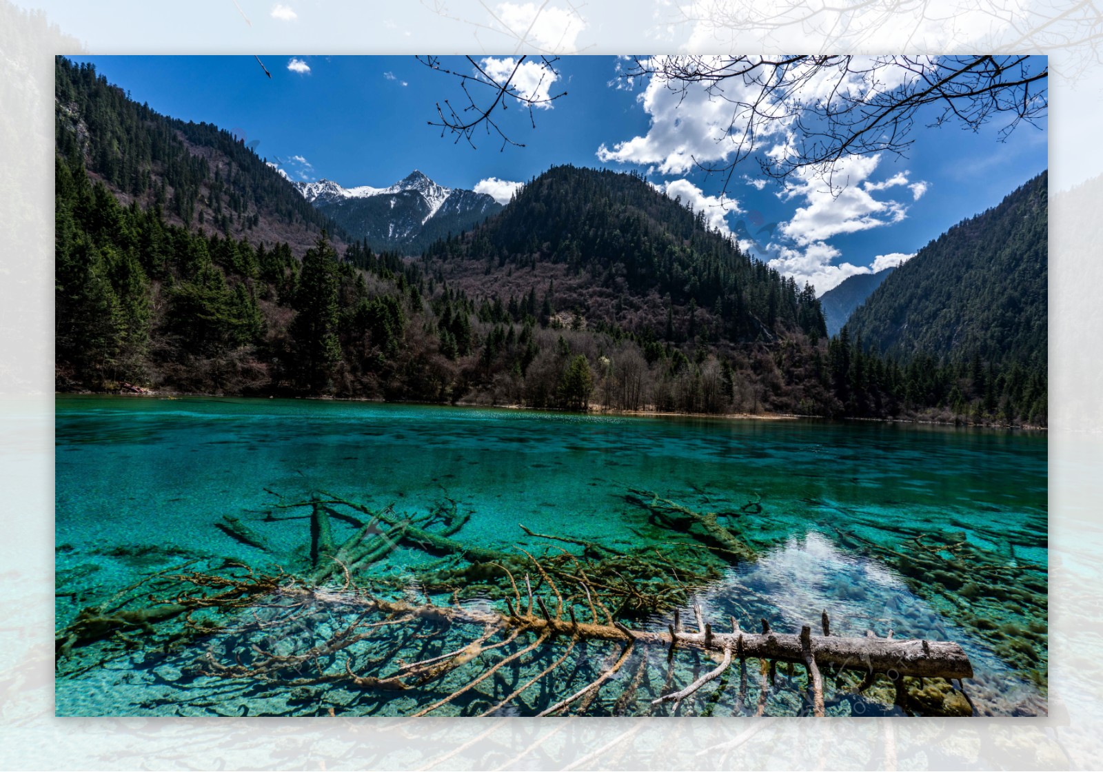
<svg viewBox="0 0 1103 772">
<path fill-rule="evenodd" d="M 803 246 L 844 233 L 899 223 L 907 216 L 908 207 L 897 201 L 875 199 L 871 193 L 904 185 L 908 175 L 901 172 L 884 182 L 868 182 L 879 160 L 880 156 L 875 154 L 849 156 L 838 161 L 833 182 L 844 186 L 834 190 L 813 172 L 799 171 L 795 182 L 786 182 L 778 195 L 785 201 L 803 199 L 805 205 L 799 206 L 779 230 Z"/>
</svg>

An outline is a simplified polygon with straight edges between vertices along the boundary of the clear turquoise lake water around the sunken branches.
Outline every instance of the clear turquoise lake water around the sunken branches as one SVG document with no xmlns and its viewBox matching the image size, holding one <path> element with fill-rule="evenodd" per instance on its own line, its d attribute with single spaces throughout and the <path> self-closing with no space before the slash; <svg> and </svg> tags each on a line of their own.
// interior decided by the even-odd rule
<svg viewBox="0 0 1103 772">
<path fill-rule="evenodd" d="M 975 678 L 966 688 L 978 712 L 1046 712 L 1043 432 L 60 396 L 55 480 L 58 630 L 81 609 L 107 603 L 142 578 L 186 561 L 229 558 L 257 570 L 292 569 L 310 549 L 309 510 L 274 505 L 318 492 L 368 510 L 389 506 L 411 518 L 450 502 L 465 517 L 451 538 L 503 551 L 577 551 L 522 525 L 617 550 L 682 540 L 683 534 L 625 500 L 627 492 L 645 490 L 695 511 L 725 513 L 721 523 L 757 551 L 756 560 L 722 566 L 694 587 L 693 598 L 710 619 L 735 616 L 747 629 L 764 618 L 775 630 L 794 632 L 817 625 L 827 610 L 839 635 L 871 630 L 955 641 L 973 663 Z M 263 537 L 266 549 L 216 525 L 227 515 Z M 333 529 L 341 542 L 355 527 L 334 521 Z M 387 587 L 416 594 L 419 571 L 433 560 L 404 545 L 371 570 L 386 577 Z M 491 603 L 478 592 L 459 600 Z M 448 603 L 447 594 L 439 602 Z M 692 616 L 688 605 L 682 613 Z M 665 630 L 668 622 L 662 612 L 641 614 L 632 624 Z M 439 696 L 411 690 L 383 699 L 336 686 L 279 689 L 196 667 L 204 652 L 229 651 L 226 634 L 154 645 L 135 630 L 81 646 L 60 661 L 56 712 L 407 715 Z M 555 652 L 548 648 L 525 665 L 534 675 L 552 664 Z M 577 683 L 585 684 L 585 672 L 600 671 L 615 652 L 579 646 Z M 640 674 L 633 686 L 639 708 L 625 710 L 618 696 L 627 686 L 620 683 L 603 688 L 587 715 L 646 715 L 664 676 L 685 685 L 708 664 L 696 656 L 687 655 L 678 665 L 684 672 L 672 675 L 663 671 L 665 652 L 653 653 L 654 673 L 642 660 L 639 668 L 629 663 L 617 680 Z M 768 715 L 801 712 L 795 680 L 779 675 Z M 682 704 L 681 715 L 753 715 L 756 684 L 752 678 L 749 708 L 732 678 L 726 687 L 703 688 Z M 510 690 L 489 678 L 435 715 L 478 715 L 503 689 Z M 534 715 L 552 691 L 533 693 L 506 712 Z M 899 710 L 875 689 L 838 696 L 828 712 Z"/>
</svg>

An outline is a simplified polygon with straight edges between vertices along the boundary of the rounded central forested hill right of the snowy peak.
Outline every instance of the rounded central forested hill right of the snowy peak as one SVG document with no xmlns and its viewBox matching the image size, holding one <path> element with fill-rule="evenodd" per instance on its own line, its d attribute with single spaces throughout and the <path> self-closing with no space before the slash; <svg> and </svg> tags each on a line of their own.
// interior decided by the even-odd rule
<svg viewBox="0 0 1103 772">
<path fill-rule="evenodd" d="M 547 294 L 542 319 L 559 312 L 664 342 L 826 335 L 811 287 L 633 173 L 554 167 L 497 217 L 430 246 L 424 267 L 503 303 Z"/>
</svg>

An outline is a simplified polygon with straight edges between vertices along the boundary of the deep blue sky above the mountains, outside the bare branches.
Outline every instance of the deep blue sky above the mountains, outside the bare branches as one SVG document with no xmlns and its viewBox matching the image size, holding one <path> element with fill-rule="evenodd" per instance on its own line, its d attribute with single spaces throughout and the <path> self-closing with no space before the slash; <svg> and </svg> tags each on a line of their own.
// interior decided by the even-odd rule
<svg viewBox="0 0 1103 772">
<path fill-rule="evenodd" d="M 956 126 L 927 128 L 921 119 L 907 158 L 882 153 L 847 161 L 852 184 L 837 197 L 816 181 L 796 180 L 788 190 L 774 182 L 763 186 L 758 164 L 747 161 L 728 186 L 725 210 L 716 199 L 722 178 L 685 160 L 685 148 L 699 154 L 717 147 L 707 137 L 718 115 L 715 104 L 703 94 L 679 101 L 641 83 L 618 88 L 623 82 L 615 79 L 612 56 L 559 60 L 549 94 L 567 94 L 535 111 L 535 129 L 527 110 L 508 103 L 499 112 L 503 128 L 525 147 L 504 149 L 485 135 L 475 136 L 472 149 L 428 125 L 436 103 L 460 104 L 463 95 L 454 78 L 413 56 L 261 56 L 271 78 L 251 56 L 75 58 L 93 62 L 109 82 L 159 112 L 257 141 L 258 154 L 299 180 L 385 186 L 419 169 L 443 185 L 504 196 L 504 183 L 524 182 L 558 163 L 645 172 L 670 195 L 705 207 L 714 225 L 740 236 L 756 257 L 821 292 L 913 254 L 1048 165 L 1045 121 L 1040 130 L 1024 125 L 999 142 L 997 121 L 973 133 Z M 443 63 L 470 72 L 462 58 Z M 762 232 L 772 224 L 772 233 Z"/>
</svg>

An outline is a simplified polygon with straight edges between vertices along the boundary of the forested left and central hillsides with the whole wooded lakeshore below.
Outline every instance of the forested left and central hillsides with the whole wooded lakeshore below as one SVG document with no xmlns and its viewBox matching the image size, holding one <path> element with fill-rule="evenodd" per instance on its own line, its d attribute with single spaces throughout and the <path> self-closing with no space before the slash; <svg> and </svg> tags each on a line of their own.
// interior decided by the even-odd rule
<svg viewBox="0 0 1103 772">
<path fill-rule="evenodd" d="M 408 259 L 330 238 L 216 127 L 57 73 L 58 389 L 1046 419 L 1043 372 L 827 341 L 811 287 L 639 176 L 554 168 Z"/>
</svg>

